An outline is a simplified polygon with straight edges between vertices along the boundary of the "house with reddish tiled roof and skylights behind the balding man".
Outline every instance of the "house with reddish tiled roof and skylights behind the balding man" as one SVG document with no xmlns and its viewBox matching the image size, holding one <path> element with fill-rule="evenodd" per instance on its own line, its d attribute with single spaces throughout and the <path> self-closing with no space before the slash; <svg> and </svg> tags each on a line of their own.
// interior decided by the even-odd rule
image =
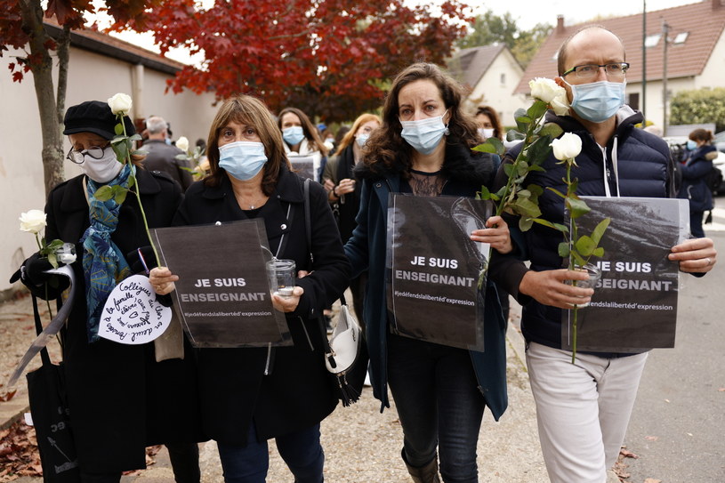
<svg viewBox="0 0 725 483">
<path fill-rule="evenodd" d="M 684 90 L 725 86 L 723 0 L 703 0 L 697 4 L 647 12 L 644 56 L 642 20 L 642 13 L 639 13 L 565 25 L 565 19 L 559 17 L 556 28 L 528 65 L 516 92 L 528 94 L 528 80 L 534 77 L 557 76 L 556 53 L 560 45 L 580 28 L 592 24 L 602 25 L 622 38 L 626 61 L 631 64 L 627 71 L 628 104 L 642 110 L 648 121 L 655 125 L 665 125 L 663 79 L 667 81 L 668 99 Z M 668 26 L 666 76 L 665 24 Z M 643 76 L 643 57 L 647 64 L 646 76 Z M 642 93 L 643 80 L 646 81 L 646 97 Z"/>
</svg>

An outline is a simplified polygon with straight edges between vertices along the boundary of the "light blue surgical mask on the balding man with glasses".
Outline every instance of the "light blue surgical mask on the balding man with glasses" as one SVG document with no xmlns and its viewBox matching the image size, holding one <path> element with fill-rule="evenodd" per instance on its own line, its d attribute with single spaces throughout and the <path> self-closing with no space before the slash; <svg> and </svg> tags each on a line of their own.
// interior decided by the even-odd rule
<svg viewBox="0 0 725 483">
<path fill-rule="evenodd" d="M 625 85 L 625 82 L 609 81 L 568 84 L 573 97 L 571 109 L 587 121 L 603 123 L 624 105 Z"/>
</svg>

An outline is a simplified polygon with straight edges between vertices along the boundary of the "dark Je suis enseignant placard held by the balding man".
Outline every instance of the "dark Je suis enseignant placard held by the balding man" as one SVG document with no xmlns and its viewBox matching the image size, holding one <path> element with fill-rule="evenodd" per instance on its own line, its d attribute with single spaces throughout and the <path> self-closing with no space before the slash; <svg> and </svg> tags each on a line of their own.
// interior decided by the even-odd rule
<svg viewBox="0 0 725 483">
<path fill-rule="evenodd" d="M 640 352 L 674 347 L 680 270 L 670 249 L 687 237 L 687 200 L 583 197 L 592 211 L 577 218 L 591 233 L 609 217 L 600 241 L 601 270 L 589 307 L 578 310 L 577 350 Z M 561 343 L 571 349 L 572 310 L 562 311 Z"/>
</svg>

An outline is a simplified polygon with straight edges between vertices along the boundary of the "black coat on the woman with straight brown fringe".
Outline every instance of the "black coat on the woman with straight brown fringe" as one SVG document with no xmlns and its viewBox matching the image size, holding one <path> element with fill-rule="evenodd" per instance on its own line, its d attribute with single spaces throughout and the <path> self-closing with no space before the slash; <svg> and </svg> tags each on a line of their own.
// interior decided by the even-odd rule
<svg viewBox="0 0 725 483">
<path fill-rule="evenodd" d="M 260 440 L 299 431 L 325 419 L 337 405 L 324 362 L 324 333 L 317 318 L 344 291 L 350 264 L 342 251 L 325 189 L 311 182 L 315 265 L 310 267 L 303 200 L 302 179 L 283 168 L 274 193 L 257 214 L 264 220 L 273 254 L 280 237 L 286 234 L 286 245 L 278 258 L 294 260 L 297 270 L 314 270 L 297 280 L 304 294 L 297 309 L 286 314 L 294 346 L 270 351 L 268 375 L 264 374 L 266 348 L 197 350 L 204 430 L 217 441 L 246 444 L 253 422 Z M 287 220 L 290 205 L 291 220 Z M 173 223 L 200 225 L 246 219 L 225 177 L 218 187 L 205 186 L 203 181 L 192 184 Z M 213 244 L 207 249 L 213 254 Z"/>
</svg>

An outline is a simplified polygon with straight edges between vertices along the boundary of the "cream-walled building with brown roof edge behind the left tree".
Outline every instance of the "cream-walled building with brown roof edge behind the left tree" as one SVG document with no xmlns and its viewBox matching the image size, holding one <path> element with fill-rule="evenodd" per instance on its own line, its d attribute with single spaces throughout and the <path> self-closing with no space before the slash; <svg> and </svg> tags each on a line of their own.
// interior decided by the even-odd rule
<svg viewBox="0 0 725 483">
<path fill-rule="evenodd" d="M 52 34 L 57 27 L 45 28 Z M 45 205 L 41 132 L 33 76 L 12 82 L 7 65 L 24 52 L 4 52 L 0 58 L 0 300 L 12 295 L 12 273 L 36 252 L 35 238 L 21 232 L 18 217 Z M 165 93 L 166 80 L 183 65 L 115 37 L 84 30 L 71 34 L 66 107 L 83 101 L 105 101 L 115 93 L 133 97 L 131 117 L 164 117 L 173 138 L 194 143 L 206 139 L 216 109 L 213 93 Z M 70 145 L 65 141 L 65 150 Z M 66 178 L 80 173 L 65 164 Z"/>
</svg>

